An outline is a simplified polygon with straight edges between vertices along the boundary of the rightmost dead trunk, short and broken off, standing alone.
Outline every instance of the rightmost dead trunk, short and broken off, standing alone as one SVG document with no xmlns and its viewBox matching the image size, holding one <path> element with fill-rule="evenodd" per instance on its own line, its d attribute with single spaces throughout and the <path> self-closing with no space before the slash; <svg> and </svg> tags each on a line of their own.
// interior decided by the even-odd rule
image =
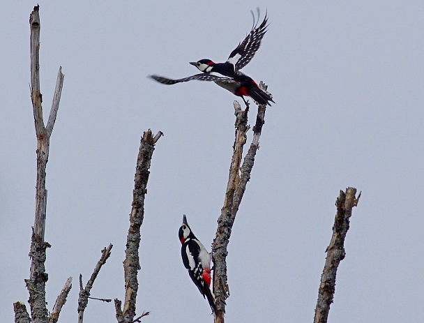
<svg viewBox="0 0 424 323">
<path fill-rule="evenodd" d="M 346 193 L 340 190 L 340 196 L 335 201 L 337 213 L 333 225 L 333 236 L 326 253 L 326 264 L 321 276 L 319 285 L 317 307 L 315 308 L 314 323 L 326 323 L 330 305 L 333 303 L 335 292 L 335 275 L 340 262 L 345 258 L 345 238 L 349 230 L 349 218 L 352 215 L 352 209 L 358 205 L 358 198 L 355 197 L 356 188 L 347 188 Z"/>
</svg>

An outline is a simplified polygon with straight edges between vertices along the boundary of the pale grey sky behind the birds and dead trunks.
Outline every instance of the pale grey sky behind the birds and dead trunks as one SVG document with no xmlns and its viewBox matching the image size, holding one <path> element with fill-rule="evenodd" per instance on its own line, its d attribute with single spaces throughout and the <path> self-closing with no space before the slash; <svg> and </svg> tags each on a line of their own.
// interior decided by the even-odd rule
<svg viewBox="0 0 424 323">
<path fill-rule="evenodd" d="M 210 322 L 181 262 L 183 213 L 210 250 L 227 183 L 236 99 L 213 83 L 165 86 L 156 73 L 224 61 L 268 9 L 269 31 L 243 69 L 275 105 L 229 243 L 227 322 L 312 322 L 340 189 L 362 190 L 328 322 L 424 316 L 423 1 L 39 1 L 45 117 L 65 74 L 47 164 L 48 308 L 66 278 L 59 322 L 77 320 L 84 283 L 114 244 L 92 296 L 123 299 L 133 176 L 143 131 L 162 130 L 142 226 L 137 310 L 144 322 Z M 0 22 L 0 313 L 27 301 L 36 183 L 29 95 L 29 14 Z M 255 109 L 252 109 L 255 110 Z M 250 114 L 253 122 L 254 114 Z M 251 138 L 251 133 L 250 133 Z M 116 322 L 89 301 L 84 322 Z"/>
</svg>

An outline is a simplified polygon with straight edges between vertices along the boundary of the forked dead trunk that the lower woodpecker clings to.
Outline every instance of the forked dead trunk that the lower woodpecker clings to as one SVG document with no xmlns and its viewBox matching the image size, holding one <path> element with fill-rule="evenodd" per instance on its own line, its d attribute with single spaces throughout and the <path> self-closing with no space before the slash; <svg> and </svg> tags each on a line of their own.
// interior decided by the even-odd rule
<svg viewBox="0 0 424 323">
<path fill-rule="evenodd" d="M 266 85 L 261 82 L 261 89 L 266 91 Z M 258 105 L 258 112 L 255 126 L 253 127 L 253 140 L 250 144 L 248 153 L 246 154 L 243 165 L 241 165 L 243 147 L 246 143 L 246 133 L 249 130 L 248 126 L 248 110 L 241 110 L 239 103 L 234 101 L 234 110 L 236 115 L 236 135 L 234 140 L 234 153 L 229 169 L 229 178 L 227 190 L 225 192 L 224 206 L 221 209 L 220 217 L 218 218 L 218 229 L 213 239 L 212 259 L 213 259 L 213 294 L 215 296 L 216 311 L 214 315 L 215 323 L 225 322 L 225 299 L 229 297 L 229 286 L 227 283 L 227 246 L 229 237 L 231 236 L 234 220 L 236 219 L 237 211 L 245 192 L 245 187 L 250 180 L 250 172 L 255 163 L 257 149 L 259 149 L 259 137 L 262 133 L 264 125 L 264 117 L 266 105 Z"/>
</svg>

